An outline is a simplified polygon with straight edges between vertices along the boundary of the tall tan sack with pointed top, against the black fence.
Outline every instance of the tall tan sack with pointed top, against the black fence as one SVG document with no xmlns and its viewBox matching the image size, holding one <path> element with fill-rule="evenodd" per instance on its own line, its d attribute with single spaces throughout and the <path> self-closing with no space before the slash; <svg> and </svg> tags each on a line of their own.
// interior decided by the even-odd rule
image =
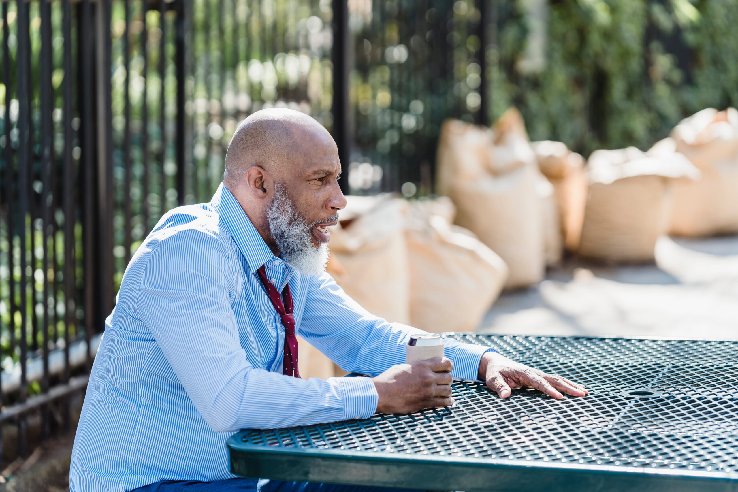
<svg viewBox="0 0 738 492">
<path fill-rule="evenodd" d="M 537 190 L 540 173 L 517 110 L 507 111 L 492 128 L 454 122 L 447 132 L 446 149 L 439 148 L 438 165 L 451 170 L 439 173 L 438 190 L 445 190 L 458 209 L 456 223 L 466 227 L 507 264 L 506 288 L 541 281 L 545 273 L 543 207 Z M 469 145 L 469 135 L 477 145 Z M 453 136 L 459 137 L 452 142 Z M 484 140 L 488 142 L 485 144 Z M 486 145 L 486 147 L 485 147 Z M 444 160 L 445 159 L 445 160 Z M 463 172 L 455 172 L 463 168 Z"/>
</svg>

